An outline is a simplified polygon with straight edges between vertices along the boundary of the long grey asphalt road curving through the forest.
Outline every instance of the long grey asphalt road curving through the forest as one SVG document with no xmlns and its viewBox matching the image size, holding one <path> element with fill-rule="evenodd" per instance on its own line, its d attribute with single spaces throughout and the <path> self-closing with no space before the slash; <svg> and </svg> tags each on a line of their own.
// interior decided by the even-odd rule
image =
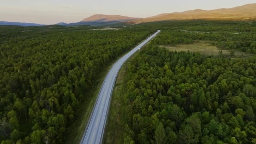
<svg viewBox="0 0 256 144">
<path fill-rule="evenodd" d="M 116 77 L 118 75 L 119 70 L 121 69 L 124 62 L 133 55 L 138 49 L 144 46 L 147 42 L 149 42 L 153 37 L 156 36 L 160 31 L 157 30 L 152 36 L 142 42 L 140 45 L 132 49 L 129 53 L 120 58 L 109 70 L 94 105 L 94 109 L 92 110 L 91 117 L 87 124 L 86 130 L 83 134 L 83 138 L 80 144 L 101 144 L 104 129 L 107 121 L 107 114 L 109 111 L 109 104 L 112 95 L 112 90 L 115 85 Z"/>
</svg>

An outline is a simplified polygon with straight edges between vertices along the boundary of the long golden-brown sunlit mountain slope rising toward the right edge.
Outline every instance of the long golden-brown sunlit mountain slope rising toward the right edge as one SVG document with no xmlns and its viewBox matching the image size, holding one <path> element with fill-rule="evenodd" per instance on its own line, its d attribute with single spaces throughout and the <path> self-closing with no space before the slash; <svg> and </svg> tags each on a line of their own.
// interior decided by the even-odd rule
<svg viewBox="0 0 256 144">
<path fill-rule="evenodd" d="M 210 20 L 255 20 L 256 3 L 233 7 L 230 9 L 216 10 L 188 10 L 185 12 L 163 13 L 149 18 L 135 20 L 135 23 L 185 20 L 185 19 L 210 19 Z"/>
</svg>

